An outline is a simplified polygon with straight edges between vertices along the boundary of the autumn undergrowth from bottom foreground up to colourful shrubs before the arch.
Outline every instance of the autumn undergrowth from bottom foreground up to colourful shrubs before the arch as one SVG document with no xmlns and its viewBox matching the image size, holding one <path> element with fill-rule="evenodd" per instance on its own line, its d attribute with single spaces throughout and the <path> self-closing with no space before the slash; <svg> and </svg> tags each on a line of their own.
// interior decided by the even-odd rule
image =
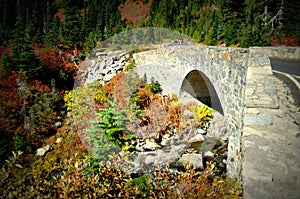
<svg viewBox="0 0 300 199">
<path fill-rule="evenodd" d="M 134 75 L 121 73 L 104 86 L 89 85 L 86 90 L 66 93 L 65 105 L 74 114 L 72 119 L 79 121 L 77 126 L 64 124 L 56 135 L 45 140 L 44 144 L 54 148 L 45 157 L 14 153 L 0 171 L 1 195 L 3 198 L 239 198 L 241 186 L 226 176 L 212 178 L 211 174 L 217 171 L 209 162 L 201 172 L 193 168 L 178 173 L 156 169 L 133 176 L 124 170 L 120 159 L 111 158 L 118 157 L 120 151 L 129 153 L 137 137 L 180 129 L 183 105 L 177 96 L 162 96 L 161 91 L 154 79 L 145 83 Z M 99 108 L 96 119 L 86 116 L 91 114 L 90 101 L 83 98 L 86 94 Z M 211 110 L 206 106 L 193 105 L 190 110 L 198 126 L 211 119 Z M 133 124 L 147 127 L 146 135 L 135 132 Z M 82 128 L 86 129 L 85 136 L 78 131 Z M 62 140 L 59 143 L 58 138 Z"/>
</svg>

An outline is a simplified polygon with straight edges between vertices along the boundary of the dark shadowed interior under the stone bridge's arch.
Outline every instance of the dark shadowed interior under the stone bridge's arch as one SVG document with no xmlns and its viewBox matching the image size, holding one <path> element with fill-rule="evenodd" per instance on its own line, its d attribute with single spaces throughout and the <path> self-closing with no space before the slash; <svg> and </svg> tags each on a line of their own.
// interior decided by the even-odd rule
<svg viewBox="0 0 300 199">
<path fill-rule="evenodd" d="M 180 92 L 188 93 L 193 98 L 224 115 L 214 86 L 202 72 L 191 71 L 183 80 Z"/>
</svg>

